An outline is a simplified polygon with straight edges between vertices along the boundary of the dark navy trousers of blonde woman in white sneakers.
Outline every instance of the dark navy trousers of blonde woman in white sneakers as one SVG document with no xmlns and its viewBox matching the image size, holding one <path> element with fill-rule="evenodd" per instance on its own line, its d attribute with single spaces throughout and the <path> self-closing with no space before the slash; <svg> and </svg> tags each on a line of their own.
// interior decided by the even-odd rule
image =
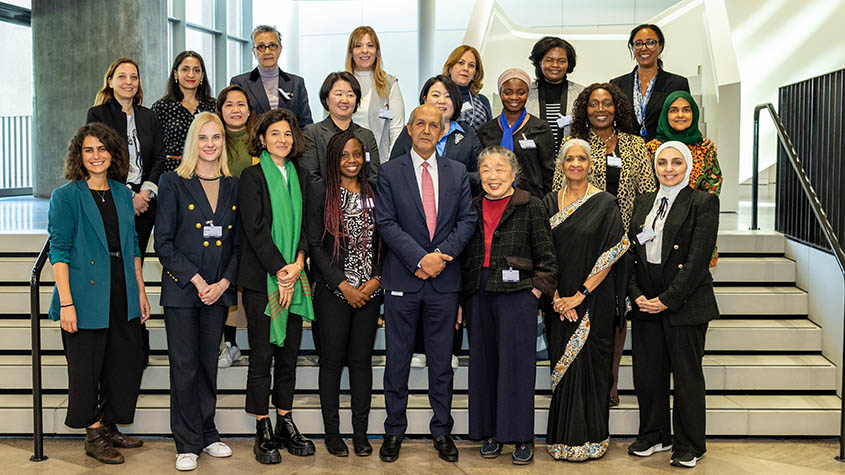
<svg viewBox="0 0 845 475">
<path fill-rule="evenodd" d="M 199 455 L 220 440 L 217 410 L 217 349 L 229 308 L 164 307 L 170 359 L 170 430 L 180 454 Z"/>
</svg>

